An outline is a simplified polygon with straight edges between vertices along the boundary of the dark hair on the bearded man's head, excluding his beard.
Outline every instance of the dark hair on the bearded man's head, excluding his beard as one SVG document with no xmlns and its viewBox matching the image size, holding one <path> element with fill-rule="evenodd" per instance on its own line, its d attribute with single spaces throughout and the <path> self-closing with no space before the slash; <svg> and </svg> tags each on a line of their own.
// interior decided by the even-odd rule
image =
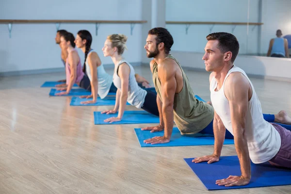
<svg viewBox="0 0 291 194">
<path fill-rule="evenodd" d="M 169 54 L 171 47 L 174 44 L 173 36 L 165 28 L 153 28 L 148 31 L 148 34 L 156 35 L 157 44 L 164 43 L 165 53 Z"/>
</svg>

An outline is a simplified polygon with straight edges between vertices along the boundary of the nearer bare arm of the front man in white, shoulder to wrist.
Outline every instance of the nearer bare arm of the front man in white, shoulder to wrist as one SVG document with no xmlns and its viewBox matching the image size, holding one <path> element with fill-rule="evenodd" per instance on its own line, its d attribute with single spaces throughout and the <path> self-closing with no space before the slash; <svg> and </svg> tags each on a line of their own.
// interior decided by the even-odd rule
<svg viewBox="0 0 291 194">
<path fill-rule="evenodd" d="M 244 135 L 249 101 L 248 80 L 240 72 L 231 73 L 225 81 L 224 92 L 229 101 L 234 145 L 240 161 L 243 178 L 251 178 L 251 164 Z"/>
</svg>

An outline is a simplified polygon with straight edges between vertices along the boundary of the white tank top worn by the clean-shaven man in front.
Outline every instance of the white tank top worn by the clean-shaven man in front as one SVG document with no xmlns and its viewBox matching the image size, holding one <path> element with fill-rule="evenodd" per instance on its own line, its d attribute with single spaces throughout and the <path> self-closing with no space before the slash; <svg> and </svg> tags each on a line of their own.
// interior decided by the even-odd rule
<svg viewBox="0 0 291 194">
<path fill-rule="evenodd" d="M 259 98 L 256 94 L 253 84 L 245 72 L 241 68 L 234 65 L 228 71 L 226 78 L 232 72 L 241 72 L 248 79 L 253 90 L 253 95 L 248 102 L 244 133 L 250 159 L 254 163 L 267 162 L 271 160 L 280 149 L 280 134 L 270 123 L 264 120 Z M 215 91 L 217 87 L 217 81 L 213 77 L 210 82 L 210 95 L 215 112 L 221 118 L 226 129 L 233 135 L 229 103 L 224 93 L 224 83 L 226 78 L 221 89 L 219 91 Z"/>
</svg>

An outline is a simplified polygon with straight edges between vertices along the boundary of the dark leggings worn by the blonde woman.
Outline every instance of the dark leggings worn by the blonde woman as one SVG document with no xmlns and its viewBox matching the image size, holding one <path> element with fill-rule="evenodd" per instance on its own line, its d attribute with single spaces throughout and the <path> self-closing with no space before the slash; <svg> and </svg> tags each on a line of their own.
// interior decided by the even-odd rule
<svg viewBox="0 0 291 194">
<path fill-rule="evenodd" d="M 146 112 L 159 116 L 159 109 L 157 104 L 157 94 L 153 93 L 152 91 L 146 91 L 146 97 L 144 105 L 142 109 Z"/>
</svg>

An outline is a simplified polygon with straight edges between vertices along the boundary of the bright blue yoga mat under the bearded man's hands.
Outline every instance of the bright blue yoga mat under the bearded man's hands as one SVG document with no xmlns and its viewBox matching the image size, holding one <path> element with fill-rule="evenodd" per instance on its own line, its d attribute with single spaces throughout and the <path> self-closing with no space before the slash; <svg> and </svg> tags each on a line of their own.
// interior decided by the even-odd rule
<svg viewBox="0 0 291 194">
<path fill-rule="evenodd" d="M 206 145 L 214 145 L 214 137 L 213 135 L 206 135 L 196 133 L 195 137 L 187 137 L 181 135 L 178 128 L 173 128 L 171 140 L 166 144 L 146 144 L 144 140 L 155 137 L 155 136 L 163 136 L 164 131 L 158 131 L 151 133 L 150 130 L 142 130 L 141 128 L 134 129 L 138 141 L 141 147 L 161 147 L 161 146 L 206 146 Z M 224 144 L 234 144 L 233 139 L 225 139 Z"/>
</svg>

